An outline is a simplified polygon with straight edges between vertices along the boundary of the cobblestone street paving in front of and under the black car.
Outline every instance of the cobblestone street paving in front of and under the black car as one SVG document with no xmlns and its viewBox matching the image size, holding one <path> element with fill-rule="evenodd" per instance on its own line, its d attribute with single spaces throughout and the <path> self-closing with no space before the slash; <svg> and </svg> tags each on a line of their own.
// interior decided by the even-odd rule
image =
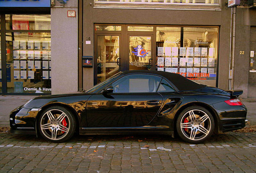
<svg viewBox="0 0 256 173">
<path fill-rule="evenodd" d="M 255 173 L 256 133 L 213 135 L 188 144 L 160 135 L 76 135 L 48 143 L 0 134 L 0 173 Z"/>
</svg>

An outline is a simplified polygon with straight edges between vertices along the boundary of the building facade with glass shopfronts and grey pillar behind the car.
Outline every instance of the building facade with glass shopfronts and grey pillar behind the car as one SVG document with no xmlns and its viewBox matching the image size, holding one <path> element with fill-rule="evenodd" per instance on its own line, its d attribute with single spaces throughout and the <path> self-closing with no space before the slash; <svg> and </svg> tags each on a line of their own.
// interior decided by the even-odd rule
<svg viewBox="0 0 256 173">
<path fill-rule="evenodd" d="M 41 12 L 29 15 L 23 12 L 22 16 L 14 7 L 1 12 L 1 42 L 5 42 L 1 48 L 6 53 L 1 52 L 0 92 L 83 91 L 118 71 L 145 69 L 180 73 L 221 89 L 242 89 L 243 98 L 256 97 L 252 52 L 256 51 L 254 1 L 241 2 L 235 9 L 228 8 L 227 1 L 219 0 L 56 0 L 52 3 L 47 8 L 48 14 L 43 7 Z M 20 21 L 33 23 L 26 15 L 27 18 L 35 15 L 34 28 L 28 25 L 29 28 L 17 31 L 16 25 L 26 26 L 26 22 Z M 44 17 L 48 21 L 50 18 L 50 28 L 38 22 L 40 18 L 46 24 L 43 22 L 46 19 L 41 19 Z M 10 28 L 6 28 L 8 23 Z M 35 37 L 34 33 L 41 36 Z"/>
</svg>

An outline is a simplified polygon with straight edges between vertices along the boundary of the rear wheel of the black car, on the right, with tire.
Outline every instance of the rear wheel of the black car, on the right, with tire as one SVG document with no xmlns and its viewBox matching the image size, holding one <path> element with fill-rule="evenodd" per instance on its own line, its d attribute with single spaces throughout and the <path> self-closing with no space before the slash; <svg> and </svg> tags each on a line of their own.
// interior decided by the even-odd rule
<svg viewBox="0 0 256 173">
<path fill-rule="evenodd" d="M 188 143 L 201 143 L 205 141 L 212 135 L 214 125 L 211 113 L 200 106 L 184 109 L 176 122 L 179 136 Z"/>
</svg>

